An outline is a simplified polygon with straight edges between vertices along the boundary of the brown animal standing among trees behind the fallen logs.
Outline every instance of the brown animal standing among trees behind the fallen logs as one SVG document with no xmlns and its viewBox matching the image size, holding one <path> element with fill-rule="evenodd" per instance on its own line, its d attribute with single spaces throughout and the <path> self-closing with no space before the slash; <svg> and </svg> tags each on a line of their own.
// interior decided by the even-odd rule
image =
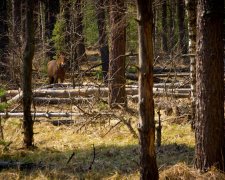
<svg viewBox="0 0 225 180">
<path fill-rule="evenodd" d="M 48 77 L 49 77 L 49 84 L 63 83 L 65 79 L 65 71 L 66 71 L 66 64 L 65 64 L 65 56 L 63 53 L 60 53 L 56 60 L 51 60 L 48 62 Z"/>
</svg>

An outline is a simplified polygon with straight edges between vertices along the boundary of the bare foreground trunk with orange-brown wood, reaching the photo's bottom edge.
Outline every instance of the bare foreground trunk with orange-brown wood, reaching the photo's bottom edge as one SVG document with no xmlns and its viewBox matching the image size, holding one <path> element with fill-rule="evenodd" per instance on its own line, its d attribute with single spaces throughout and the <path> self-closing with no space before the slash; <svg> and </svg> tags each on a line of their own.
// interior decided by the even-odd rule
<svg viewBox="0 0 225 180">
<path fill-rule="evenodd" d="M 141 179 L 158 179 L 153 101 L 152 0 L 137 0 L 139 37 L 139 134 Z"/>
</svg>

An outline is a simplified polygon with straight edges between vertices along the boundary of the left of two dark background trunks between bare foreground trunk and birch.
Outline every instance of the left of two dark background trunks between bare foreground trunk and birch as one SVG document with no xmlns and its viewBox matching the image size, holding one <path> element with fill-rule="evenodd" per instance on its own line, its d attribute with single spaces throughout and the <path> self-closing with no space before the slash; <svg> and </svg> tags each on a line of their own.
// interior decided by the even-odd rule
<svg viewBox="0 0 225 180">
<path fill-rule="evenodd" d="M 168 51 L 167 45 L 167 3 L 162 0 L 162 50 Z"/>
</svg>

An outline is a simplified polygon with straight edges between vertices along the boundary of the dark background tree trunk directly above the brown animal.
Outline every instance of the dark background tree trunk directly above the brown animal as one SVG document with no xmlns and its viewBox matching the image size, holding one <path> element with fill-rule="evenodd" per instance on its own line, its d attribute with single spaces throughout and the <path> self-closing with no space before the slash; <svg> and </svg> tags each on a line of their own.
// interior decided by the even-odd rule
<svg viewBox="0 0 225 180">
<path fill-rule="evenodd" d="M 51 41 L 52 32 L 56 23 L 56 16 L 60 12 L 59 0 L 46 0 L 46 34 L 49 39 L 49 49 L 47 56 L 52 59 L 56 54 L 53 42 Z"/>
</svg>

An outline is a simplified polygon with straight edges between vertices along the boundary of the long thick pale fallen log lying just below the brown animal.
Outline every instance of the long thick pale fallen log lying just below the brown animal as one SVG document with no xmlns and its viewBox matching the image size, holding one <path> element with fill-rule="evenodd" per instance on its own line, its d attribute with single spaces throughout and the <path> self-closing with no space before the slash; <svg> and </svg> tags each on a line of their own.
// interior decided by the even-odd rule
<svg viewBox="0 0 225 180">
<path fill-rule="evenodd" d="M 167 87 L 167 86 L 164 86 Z M 189 88 L 164 88 L 163 84 L 153 88 L 154 95 L 157 96 L 174 96 L 186 97 L 190 94 Z M 126 88 L 127 95 L 137 95 L 137 88 Z M 52 90 L 40 89 L 34 91 L 33 102 L 36 104 L 81 104 L 93 102 L 94 98 L 108 97 L 108 88 L 90 88 L 90 89 L 68 89 L 68 90 Z M 22 98 L 22 92 L 10 99 L 8 103 L 14 103 Z"/>
</svg>

